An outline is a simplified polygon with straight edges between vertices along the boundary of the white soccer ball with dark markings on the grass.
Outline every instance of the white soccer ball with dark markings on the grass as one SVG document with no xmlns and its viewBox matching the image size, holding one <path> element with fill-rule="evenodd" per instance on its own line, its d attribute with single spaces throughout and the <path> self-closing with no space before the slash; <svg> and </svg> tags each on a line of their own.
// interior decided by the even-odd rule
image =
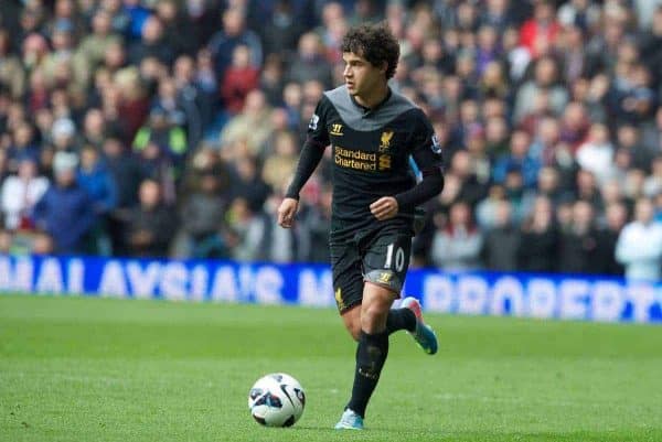
<svg viewBox="0 0 662 442">
<path fill-rule="evenodd" d="M 285 373 L 266 375 L 248 392 L 248 409 L 253 419 L 266 427 L 291 427 L 306 406 L 301 384 Z"/>
</svg>

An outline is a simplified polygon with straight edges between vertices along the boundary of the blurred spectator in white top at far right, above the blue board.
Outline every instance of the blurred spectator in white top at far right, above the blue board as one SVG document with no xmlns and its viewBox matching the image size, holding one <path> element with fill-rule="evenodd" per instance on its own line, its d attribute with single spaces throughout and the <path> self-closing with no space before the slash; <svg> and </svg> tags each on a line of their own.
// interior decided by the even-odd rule
<svg viewBox="0 0 662 442">
<path fill-rule="evenodd" d="M 626 277 L 656 281 L 662 266 L 662 224 L 653 219 L 653 204 L 640 198 L 634 219 L 628 223 L 616 245 L 616 259 L 626 267 Z"/>
</svg>

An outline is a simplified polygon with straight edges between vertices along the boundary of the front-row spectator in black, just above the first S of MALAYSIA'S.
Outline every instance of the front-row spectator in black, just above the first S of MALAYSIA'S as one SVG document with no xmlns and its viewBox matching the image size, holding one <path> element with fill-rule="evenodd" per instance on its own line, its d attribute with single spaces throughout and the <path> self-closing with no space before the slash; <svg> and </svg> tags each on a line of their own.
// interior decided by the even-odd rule
<svg viewBox="0 0 662 442">
<path fill-rule="evenodd" d="M 159 183 L 140 183 L 138 205 L 132 207 L 126 224 L 126 244 L 134 257 L 168 256 L 170 239 L 177 228 L 174 209 L 161 200 Z"/>
</svg>

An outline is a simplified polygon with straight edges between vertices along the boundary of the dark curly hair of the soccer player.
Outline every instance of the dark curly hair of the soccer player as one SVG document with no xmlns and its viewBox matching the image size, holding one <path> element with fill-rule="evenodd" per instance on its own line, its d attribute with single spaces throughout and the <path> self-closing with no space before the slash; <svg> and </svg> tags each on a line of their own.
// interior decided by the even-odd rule
<svg viewBox="0 0 662 442">
<path fill-rule="evenodd" d="M 361 24 L 348 31 L 340 44 L 342 52 L 353 52 L 367 60 L 373 66 L 385 62 L 386 78 L 393 77 L 399 60 L 399 44 L 386 22 Z"/>
</svg>

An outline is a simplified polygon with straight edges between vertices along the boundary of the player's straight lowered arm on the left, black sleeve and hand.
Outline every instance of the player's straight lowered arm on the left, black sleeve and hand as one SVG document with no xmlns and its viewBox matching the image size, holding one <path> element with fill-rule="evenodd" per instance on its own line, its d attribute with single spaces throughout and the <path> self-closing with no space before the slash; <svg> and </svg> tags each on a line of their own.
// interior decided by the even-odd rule
<svg viewBox="0 0 662 442">
<path fill-rule="evenodd" d="M 308 123 L 308 137 L 301 149 L 295 176 L 282 203 L 280 203 L 280 207 L 278 207 L 278 225 L 281 227 L 290 228 L 292 226 L 295 215 L 299 209 L 299 193 L 322 160 L 324 149 L 329 145 L 327 109 L 330 104 L 325 103 L 327 100 L 325 97 L 322 97 Z"/>
</svg>

